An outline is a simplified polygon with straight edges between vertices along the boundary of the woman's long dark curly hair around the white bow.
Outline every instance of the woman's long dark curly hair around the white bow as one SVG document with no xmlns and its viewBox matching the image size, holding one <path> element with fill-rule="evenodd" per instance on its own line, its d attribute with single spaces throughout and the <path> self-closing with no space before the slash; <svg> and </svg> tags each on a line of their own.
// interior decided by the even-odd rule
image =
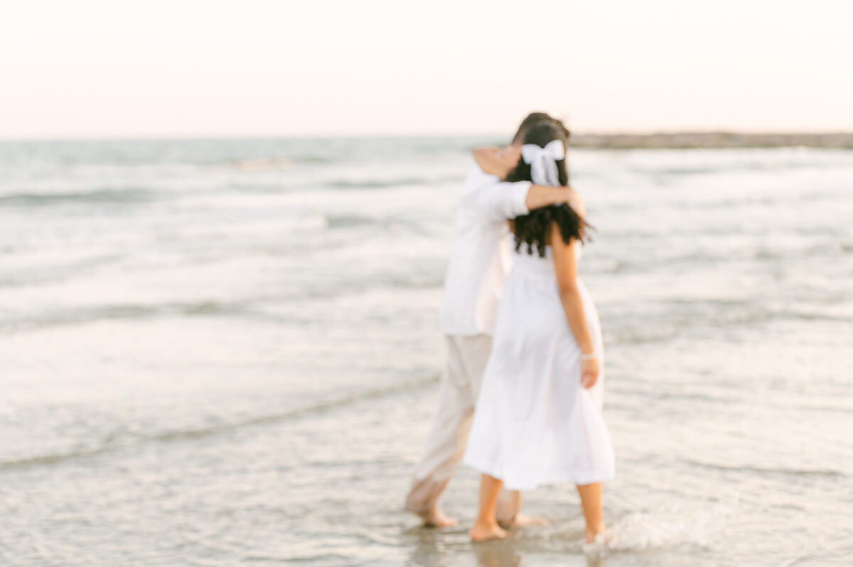
<svg viewBox="0 0 853 567">
<path fill-rule="evenodd" d="M 536 144 L 544 148 L 553 140 L 560 140 L 564 146 L 568 147 L 569 131 L 563 124 L 557 124 L 555 120 L 547 120 L 532 125 L 525 134 L 524 143 Z M 560 159 L 556 164 L 560 185 L 568 185 L 569 173 L 566 170 L 566 160 Z M 508 182 L 531 181 L 531 166 L 525 164 L 524 159 L 519 159 L 518 165 L 507 174 L 506 180 Z M 545 257 L 545 246 L 548 244 L 551 223 L 557 223 L 560 236 L 566 244 L 573 238 L 585 240 L 585 229 L 591 228 L 569 205 L 551 205 L 536 209 L 513 219 L 515 251 L 519 252 L 521 245 L 526 244 L 528 254 L 532 254 L 533 247 L 536 246 L 539 256 Z"/>
</svg>

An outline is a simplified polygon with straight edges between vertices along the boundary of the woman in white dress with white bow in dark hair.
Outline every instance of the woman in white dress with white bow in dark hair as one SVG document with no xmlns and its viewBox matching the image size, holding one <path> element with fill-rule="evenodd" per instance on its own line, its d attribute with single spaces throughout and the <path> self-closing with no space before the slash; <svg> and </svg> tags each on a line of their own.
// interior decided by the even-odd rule
<svg viewBox="0 0 853 567">
<path fill-rule="evenodd" d="M 566 185 L 567 141 L 560 124 L 533 126 L 507 181 Z M 577 278 L 587 229 L 583 205 L 532 211 L 511 228 L 513 268 L 465 454 L 465 463 L 483 473 L 470 535 L 474 541 L 507 535 L 495 518 L 502 486 L 574 483 L 586 540 L 595 541 L 604 530 L 601 482 L 613 477 L 614 458 L 601 418 L 601 323 Z"/>
</svg>

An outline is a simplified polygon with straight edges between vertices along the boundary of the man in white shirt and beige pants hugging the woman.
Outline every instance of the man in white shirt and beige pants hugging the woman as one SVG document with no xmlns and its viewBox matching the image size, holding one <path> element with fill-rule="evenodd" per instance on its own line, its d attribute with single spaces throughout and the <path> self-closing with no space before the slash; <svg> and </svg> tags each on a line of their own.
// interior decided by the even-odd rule
<svg viewBox="0 0 853 567">
<path fill-rule="evenodd" d="M 522 121 L 508 148 L 475 150 L 478 165 L 462 187 L 456 241 L 441 306 L 447 363 L 439 386 L 438 412 L 405 505 L 427 525 L 444 527 L 457 523 L 441 512 L 438 497 L 465 452 L 480 378 L 489 360 L 497 305 L 510 267 L 508 219 L 531 209 L 572 201 L 574 192 L 570 188 L 501 182 L 518 163 L 527 128 L 544 120 L 554 119 L 545 113 L 531 113 Z M 502 493 L 498 521 L 513 524 L 518 520 L 520 505 L 518 492 Z"/>
</svg>

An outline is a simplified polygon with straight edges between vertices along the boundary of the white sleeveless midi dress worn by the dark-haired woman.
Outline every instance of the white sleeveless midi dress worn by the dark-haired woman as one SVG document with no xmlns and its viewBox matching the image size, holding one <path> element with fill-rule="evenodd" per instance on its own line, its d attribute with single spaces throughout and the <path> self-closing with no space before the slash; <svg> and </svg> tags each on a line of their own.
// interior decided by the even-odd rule
<svg viewBox="0 0 853 567">
<path fill-rule="evenodd" d="M 583 313 L 599 355 L 596 384 L 581 384 L 581 351 L 546 257 L 513 252 L 498 309 L 491 355 L 483 374 L 464 462 L 503 481 L 507 489 L 609 480 L 615 465 L 601 417 L 604 387 L 601 322 L 578 281 Z M 576 241 L 575 256 L 581 245 Z"/>
</svg>

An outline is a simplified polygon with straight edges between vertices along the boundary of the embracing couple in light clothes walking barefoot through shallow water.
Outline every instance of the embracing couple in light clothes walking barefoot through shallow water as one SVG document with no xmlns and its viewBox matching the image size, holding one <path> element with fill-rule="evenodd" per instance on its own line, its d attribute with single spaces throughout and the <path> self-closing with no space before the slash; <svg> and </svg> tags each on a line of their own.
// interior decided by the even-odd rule
<svg viewBox="0 0 853 567">
<path fill-rule="evenodd" d="M 560 120 L 531 113 L 507 148 L 474 151 L 462 188 L 441 310 L 448 358 L 406 509 L 456 524 L 438 497 L 464 460 L 483 473 L 474 541 L 542 523 L 519 513 L 520 491 L 553 483 L 577 485 L 586 541 L 604 532 L 614 458 L 601 324 L 577 277 L 589 225 L 568 188 L 568 138 Z"/>
</svg>

